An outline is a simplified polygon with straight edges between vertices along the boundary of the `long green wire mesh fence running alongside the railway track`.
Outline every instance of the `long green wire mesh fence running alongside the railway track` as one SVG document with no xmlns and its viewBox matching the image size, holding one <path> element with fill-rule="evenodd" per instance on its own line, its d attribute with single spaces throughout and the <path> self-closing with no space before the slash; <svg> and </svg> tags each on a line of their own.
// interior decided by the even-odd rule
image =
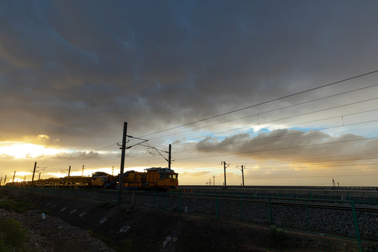
<svg viewBox="0 0 378 252">
<path fill-rule="evenodd" d="M 31 188 L 13 189 L 31 191 Z M 33 190 L 34 193 L 97 201 L 116 202 L 118 199 L 115 190 L 38 187 Z M 155 211 L 276 225 L 286 230 L 349 239 L 356 241 L 358 251 L 363 251 L 368 244 L 378 244 L 378 202 L 187 193 L 181 190 L 168 193 L 125 190 L 122 202 Z"/>
</svg>

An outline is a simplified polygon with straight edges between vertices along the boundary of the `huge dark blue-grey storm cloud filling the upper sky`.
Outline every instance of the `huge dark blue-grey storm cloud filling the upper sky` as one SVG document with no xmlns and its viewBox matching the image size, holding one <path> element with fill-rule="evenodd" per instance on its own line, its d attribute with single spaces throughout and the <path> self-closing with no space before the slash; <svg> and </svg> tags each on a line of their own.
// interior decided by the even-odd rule
<svg viewBox="0 0 378 252">
<path fill-rule="evenodd" d="M 47 134 L 101 146 L 102 136 L 120 139 L 125 120 L 146 134 L 371 70 L 377 7 L 5 1 L 0 139 Z"/>
</svg>

